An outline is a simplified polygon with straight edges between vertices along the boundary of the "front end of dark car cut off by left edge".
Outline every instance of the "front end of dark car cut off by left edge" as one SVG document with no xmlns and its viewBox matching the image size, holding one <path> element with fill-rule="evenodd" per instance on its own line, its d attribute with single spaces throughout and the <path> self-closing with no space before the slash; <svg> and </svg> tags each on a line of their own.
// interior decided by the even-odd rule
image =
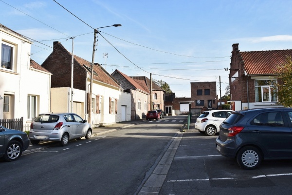
<svg viewBox="0 0 292 195">
<path fill-rule="evenodd" d="M 18 160 L 29 146 L 27 134 L 0 126 L 0 157 L 6 161 Z"/>
</svg>

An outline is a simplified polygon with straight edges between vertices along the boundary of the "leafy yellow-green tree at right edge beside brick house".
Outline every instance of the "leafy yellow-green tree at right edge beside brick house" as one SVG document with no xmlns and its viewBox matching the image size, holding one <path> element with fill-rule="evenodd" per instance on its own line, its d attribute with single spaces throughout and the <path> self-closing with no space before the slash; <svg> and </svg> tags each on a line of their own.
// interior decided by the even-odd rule
<svg viewBox="0 0 292 195">
<path fill-rule="evenodd" d="M 277 91 L 274 90 L 278 97 L 278 104 L 285 107 L 292 107 L 292 58 L 286 58 L 284 64 L 277 66 L 276 73 L 278 81 L 273 83 Z"/>
</svg>

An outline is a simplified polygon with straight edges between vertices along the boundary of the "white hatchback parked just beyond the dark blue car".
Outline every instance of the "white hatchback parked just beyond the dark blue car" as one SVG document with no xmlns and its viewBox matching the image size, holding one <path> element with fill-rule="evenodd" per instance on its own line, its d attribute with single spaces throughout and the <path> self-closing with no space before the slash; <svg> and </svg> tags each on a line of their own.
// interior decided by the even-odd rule
<svg viewBox="0 0 292 195">
<path fill-rule="evenodd" d="M 207 136 L 214 136 L 219 132 L 220 124 L 231 115 L 233 110 L 208 110 L 197 118 L 195 129 Z"/>
</svg>

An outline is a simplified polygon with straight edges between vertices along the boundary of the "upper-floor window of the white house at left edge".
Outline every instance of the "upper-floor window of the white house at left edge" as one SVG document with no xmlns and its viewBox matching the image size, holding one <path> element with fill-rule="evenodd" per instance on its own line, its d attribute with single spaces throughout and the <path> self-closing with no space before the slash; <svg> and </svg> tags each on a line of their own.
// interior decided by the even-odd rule
<svg viewBox="0 0 292 195">
<path fill-rule="evenodd" d="M 9 43 L 1 44 L 1 68 L 12 70 L 14 46 Z"/>
</svg>

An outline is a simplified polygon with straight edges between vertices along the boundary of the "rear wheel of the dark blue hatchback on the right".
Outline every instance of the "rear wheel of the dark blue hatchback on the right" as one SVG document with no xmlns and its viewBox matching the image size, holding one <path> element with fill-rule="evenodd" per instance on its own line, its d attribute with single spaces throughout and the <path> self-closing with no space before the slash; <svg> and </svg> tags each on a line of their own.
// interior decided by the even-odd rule
<svg viewBox="0 0 292 195">
<path fill-rule="evenodd" d="M 253 146 L 241 148 L 236 158 L 238 165 L 247 170 L 255 169 L 262 161 L 260 151 Z"/>
</svg>

